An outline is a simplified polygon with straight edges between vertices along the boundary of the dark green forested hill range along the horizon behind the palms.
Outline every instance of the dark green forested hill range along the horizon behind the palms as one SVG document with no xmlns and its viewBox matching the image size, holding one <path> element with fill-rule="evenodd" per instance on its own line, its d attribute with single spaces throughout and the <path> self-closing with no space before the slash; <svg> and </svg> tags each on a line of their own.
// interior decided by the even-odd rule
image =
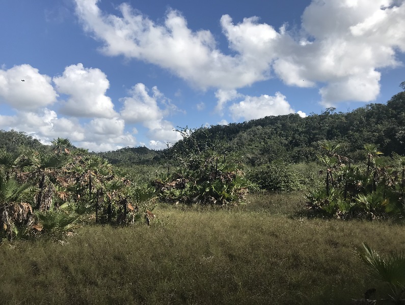
<svg viewBox="0 0 405 305">
<path fill-rule="evenodd" d="M 305 118 L 298 114 L 267 116 L 244 123 L 200 128 L 195 136 L 202 145 L 206 145 L 207 138 L 220 140 L 221 149 L 239 153 L 251 165 L 277 159 L 286 162 L 315 160 L 319 141 L 325 139 L 345 143 L 343 153 L 355 160 L 364 157 L 363 146 L 367 143 L 376 144 L 386 156 L 393 151 L 405 155 L 405 91 L 393 96 L 386 104 L 369 104 L 346 113 L 328 108 L 321 114 Z M 179 141 L 174 149 L 184 144 L 184 141 Z M 15 151 L 18 147 L 50 149 L 23 132 L 0 131 L 0 148 Z M 97 155 L 120 166 L 154 164 L 166 153 L 166 150 L 147 147 L 126 147 Z"/>
</svg>

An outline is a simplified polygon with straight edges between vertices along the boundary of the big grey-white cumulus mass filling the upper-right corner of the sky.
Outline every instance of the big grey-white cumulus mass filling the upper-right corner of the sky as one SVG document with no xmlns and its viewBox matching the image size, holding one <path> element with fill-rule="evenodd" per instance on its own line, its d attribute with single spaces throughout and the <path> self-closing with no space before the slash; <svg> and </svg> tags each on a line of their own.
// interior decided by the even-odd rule
<svg viewBox="0 0 405 305">
<path fill-rule="evenodd" d="M 302 16 L 306 43 L 283 35 L 276 74 L 287 84 L 319 89 L 323 105 L 371 101 L 380 92 L 379 68 L 399 65 L 395 51 L 405 51 L 405 4 L 367 0 L 312 1 Z"/>
</svg>

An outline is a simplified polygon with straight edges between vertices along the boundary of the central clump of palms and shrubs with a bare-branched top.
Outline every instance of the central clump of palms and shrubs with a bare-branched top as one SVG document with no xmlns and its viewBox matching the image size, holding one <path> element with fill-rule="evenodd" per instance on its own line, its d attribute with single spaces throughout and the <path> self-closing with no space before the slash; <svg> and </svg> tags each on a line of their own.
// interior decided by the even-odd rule
<svg viewBox="0 0 405 305">
<path fill-rule="evenodd" d="M 196 130 L 186 128 L 180 132 L 183 145 L 167 151 L 174 172 L 168 170 L 153 181 L 159 198 L 187 204 L 228 205 L 243 201 L 248 192 L 247 182 L 236 156 L 227 155 L 226 151 L 219 153 L 218 143 L 208 137 L 199 141 Z"/>
</svg>

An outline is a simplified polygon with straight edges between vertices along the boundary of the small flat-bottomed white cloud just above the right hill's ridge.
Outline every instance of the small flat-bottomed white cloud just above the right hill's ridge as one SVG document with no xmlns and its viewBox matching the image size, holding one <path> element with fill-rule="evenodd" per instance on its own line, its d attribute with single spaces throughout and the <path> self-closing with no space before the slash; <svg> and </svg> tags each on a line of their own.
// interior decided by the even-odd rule
<svg viewBox="0 0 405 305">
<path fill-rule="evenodd" d="M 245 96 L 244 101 L 232 104 L 229 106 L 229 110 L 234 120 L 238 118 L 251 120 L 269 115 L 283 115 L 295 112 L 287 102 L 286 97 L 279 92 L 274 97 L 268 95 L 260 97 Z"/>
</svg>

